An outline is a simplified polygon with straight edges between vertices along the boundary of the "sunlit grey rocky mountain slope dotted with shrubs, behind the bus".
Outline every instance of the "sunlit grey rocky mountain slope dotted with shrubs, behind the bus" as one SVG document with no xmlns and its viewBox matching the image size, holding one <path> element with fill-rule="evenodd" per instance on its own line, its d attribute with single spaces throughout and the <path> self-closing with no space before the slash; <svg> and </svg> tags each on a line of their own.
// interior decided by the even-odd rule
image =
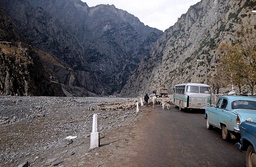
<svg viewBox="0 0 256 167">
<path fill-rule="evenodd" d="M 156 41 L 123 87 L 120 96 L 134 97 L 151 93 L 158 87 L 178 83 L 204 83 L 204 62 L 207 75 L 215 70 L 220 42 L 233 43 L 236 30 L 242 25 L 256 24 L 250 11 L 256 9 L 253 0 L 202 0 L 191 6 Z"/>
</svg>

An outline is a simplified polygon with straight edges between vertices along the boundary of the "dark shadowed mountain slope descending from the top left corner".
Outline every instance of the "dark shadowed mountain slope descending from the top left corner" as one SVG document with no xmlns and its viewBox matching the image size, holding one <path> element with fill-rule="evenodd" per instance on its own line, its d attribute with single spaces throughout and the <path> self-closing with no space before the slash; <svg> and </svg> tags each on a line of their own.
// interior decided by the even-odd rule
<svg viewBox="0 0 256 167">
<path fill-rule="evenodd" d="M 2 1 L 4 10 L 17 25 L 22 35 L 28 39 L 28 44 L 35 45 L 50 54 L 60 57 L 61 60 L 71 64 L 73 69 L 88 70 L 87 62 L 81 56 L 81 46 L 76 39 L 61 27 L 58 21 L 54 20 L 42 8 L 34 8 L 27 1 Z M 51 66 L 49 66 L 51 69 Z M 58 69 L 52 69 L 56 72 Z M 57 76 L 63 81 L 63 75 Z M 62 82 L 66 85 L 79 86 L 74 79 Z"/>
</svg>

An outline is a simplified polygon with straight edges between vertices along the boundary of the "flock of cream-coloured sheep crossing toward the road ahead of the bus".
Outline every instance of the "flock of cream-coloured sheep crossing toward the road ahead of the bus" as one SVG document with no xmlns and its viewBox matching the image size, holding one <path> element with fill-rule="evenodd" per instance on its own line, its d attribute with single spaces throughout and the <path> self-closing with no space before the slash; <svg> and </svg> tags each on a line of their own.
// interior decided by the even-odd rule
<svg viewBox="0 0 256 167">
<path fill-rule="evenodd" d="M 132 108 L 137 107 L 137 102 L 139 102 L 139 106 L 141 105 L 140 98 L 132 99 L 132 100 L 127 100 L 126 102 L 116 102 L 116 103 L 97 103 L 97 110 L 98 111 L 115 111 L 115 110 L 129 110 Z M 145 105 L 145 101 L 142 98 L 143 105 Z M 169 104 L 169 105 L 166 105 Z M 170 104 L 172 104 L 172 98 L 157 98 L 156 99 L 156 105 L 163 105 L 167 106 L 169 109 Z M 153 100 L 152 97 L 149 98 L 148 100 L 148 105 L 153 105 Z M 88 108 L 89 111 L 94 111 L 93 106 L 89 106 Z"/>
</svg>

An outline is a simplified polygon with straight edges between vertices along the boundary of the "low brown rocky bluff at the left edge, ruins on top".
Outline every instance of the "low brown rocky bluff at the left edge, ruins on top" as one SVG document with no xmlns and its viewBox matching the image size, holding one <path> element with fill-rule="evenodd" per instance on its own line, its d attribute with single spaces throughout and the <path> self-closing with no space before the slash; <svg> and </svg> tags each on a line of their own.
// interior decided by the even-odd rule
<svg viewBox="0 0 256 167">
<path fill-rule="evenodd" d="M 25 43 L 0 43 L 0 94 L 16 96 L 65 96 L 34 49 Z"/>
</svg>

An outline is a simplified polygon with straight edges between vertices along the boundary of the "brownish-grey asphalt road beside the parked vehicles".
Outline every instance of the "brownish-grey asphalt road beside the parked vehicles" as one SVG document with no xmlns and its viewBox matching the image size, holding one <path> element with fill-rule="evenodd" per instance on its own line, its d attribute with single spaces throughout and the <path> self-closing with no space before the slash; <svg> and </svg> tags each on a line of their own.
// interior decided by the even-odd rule
<svg viewBox="0 0 256 167">
<path fill-rule="evenodd" d="M 237 140 L 225 142 L 220 129 L 206 129 L 204 111 L 180 112 L 173 105 L 149 109 L 133 129 L 138 154 L 131 157 L 132 166 L 245 166 Z"/>
</svg>

